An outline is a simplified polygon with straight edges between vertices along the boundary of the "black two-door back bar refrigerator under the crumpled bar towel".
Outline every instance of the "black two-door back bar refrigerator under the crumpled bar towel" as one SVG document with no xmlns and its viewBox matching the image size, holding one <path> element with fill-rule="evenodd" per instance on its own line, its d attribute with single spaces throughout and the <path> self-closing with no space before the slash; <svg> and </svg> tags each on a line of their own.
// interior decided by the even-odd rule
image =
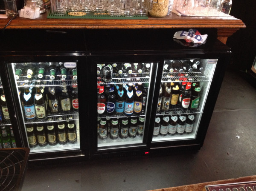
<svg viewBox="0 0 256 191">
<path fill-rule="evenodd" d="M 204 142 L 230 48 L 214 34 L 190 47 L 172 39 L 174 30 L 151 32 L 87 36 L 91 157 L 199 149 Z"/>
</svg>

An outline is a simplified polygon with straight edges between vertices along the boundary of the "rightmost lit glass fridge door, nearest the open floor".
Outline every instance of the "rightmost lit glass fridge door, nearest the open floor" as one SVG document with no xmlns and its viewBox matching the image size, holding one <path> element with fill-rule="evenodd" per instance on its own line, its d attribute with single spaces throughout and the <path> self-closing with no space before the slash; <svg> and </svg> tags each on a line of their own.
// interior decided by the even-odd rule
<svg viewBox="0 0 256 191">
<path fill-rule="evenodd" d="M 196 138 L 217 61 L 165 60 L 152 143 Z"/>
</svg>

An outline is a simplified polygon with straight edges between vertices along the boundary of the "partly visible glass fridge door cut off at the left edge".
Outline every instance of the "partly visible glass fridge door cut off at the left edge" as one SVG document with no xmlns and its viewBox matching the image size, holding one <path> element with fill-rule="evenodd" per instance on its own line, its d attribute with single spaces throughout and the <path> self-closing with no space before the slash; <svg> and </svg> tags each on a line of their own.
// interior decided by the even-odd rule
<svg viewBox="0 0 256 191">
<path fill-rule="evenodd" d="M 17 148 L 0 78 L 0 148 Z"/>
</svg>

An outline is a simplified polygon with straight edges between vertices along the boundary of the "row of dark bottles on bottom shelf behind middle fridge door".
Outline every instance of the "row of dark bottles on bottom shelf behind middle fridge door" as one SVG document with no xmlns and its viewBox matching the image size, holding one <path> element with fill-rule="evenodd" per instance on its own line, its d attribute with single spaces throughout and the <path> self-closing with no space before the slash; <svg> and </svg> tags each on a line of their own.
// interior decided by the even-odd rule
<svg viewBox="0 0 256 191">
<path fill-rule="evenodd" d="M 100 118 L 98 117 L 98 133 L 99 138 L 104 140 L 126 139 L 127 137 L 135 138 L 142 136 L 144 131 L 145 117 L 122 117 L 122 118 Z"/>
</svg>

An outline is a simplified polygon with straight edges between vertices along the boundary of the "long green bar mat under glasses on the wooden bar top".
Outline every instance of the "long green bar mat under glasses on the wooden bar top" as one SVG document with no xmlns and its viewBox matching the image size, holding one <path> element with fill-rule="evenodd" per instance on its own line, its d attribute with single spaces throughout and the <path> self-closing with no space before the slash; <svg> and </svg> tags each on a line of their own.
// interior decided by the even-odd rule
<svg viewBox="0 0 256 191">
<path fill-rule="evenodd" d="M 124 16 L 117 16 L 113 17 L 108 15 L 108 13 L 84 13 L 84 12 L 71 12 L 70 14 L 78 13 L 80 15 L 70 15 L 70 12 L 66 11 L 66 14 L 62 15 L 55 15 L 52 14 L 52 10 L 49 11 L 47 15 L 48 19 L 148 19 L 147 16 L 134 16 L 134 17 L 124 17 Z M 84 15 L 81 15 L 84 14 Z"/>
</svg>

